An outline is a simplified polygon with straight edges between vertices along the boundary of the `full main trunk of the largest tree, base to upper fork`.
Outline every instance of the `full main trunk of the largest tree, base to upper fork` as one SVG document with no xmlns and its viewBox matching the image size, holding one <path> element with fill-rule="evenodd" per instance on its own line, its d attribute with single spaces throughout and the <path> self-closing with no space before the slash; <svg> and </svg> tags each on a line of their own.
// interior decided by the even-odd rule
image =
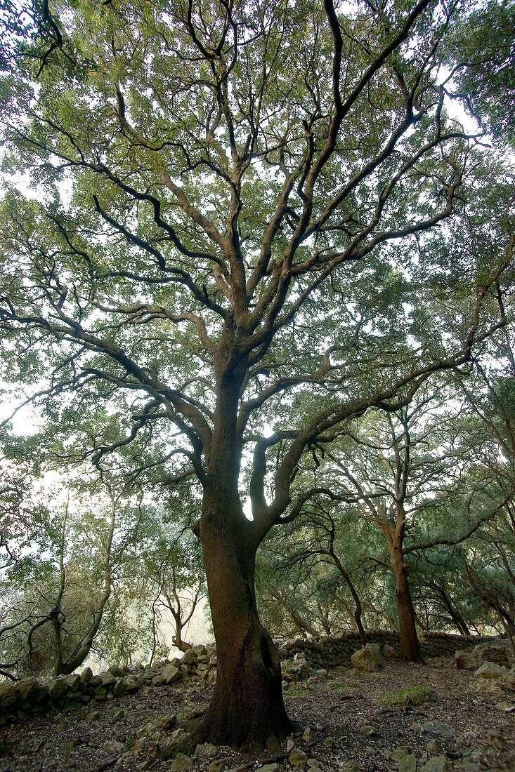
<svg viewBox="0 0 515 772">
<path fill-rule="evenodd" d="M 240 438 L 239 388 L 220 385 L 204 482 L 200 540 L 213 630 L 217 683 L 194 739 L 240 750 L 278 752 L 292 732 L 282 697 L 281 662 L 257 615 L 254 589 L 257 540 L 237 489 Z"/>
</svg>

